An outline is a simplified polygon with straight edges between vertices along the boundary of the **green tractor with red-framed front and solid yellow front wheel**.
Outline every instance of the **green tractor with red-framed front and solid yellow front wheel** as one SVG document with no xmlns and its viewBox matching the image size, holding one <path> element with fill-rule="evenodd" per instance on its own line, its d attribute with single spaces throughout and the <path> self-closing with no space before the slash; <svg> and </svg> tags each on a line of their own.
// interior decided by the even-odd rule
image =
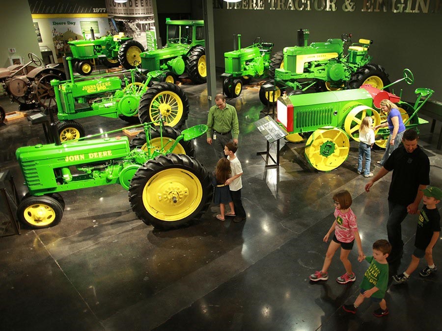
<svg viewBox="0 0 442 331">
<path fill-rule="evenodd" d="M 402 80 L 414 81 L 410 70 L 404 70 Z M 418 117 L 418 111 L 433 94 L 433 90 L 417 88 L 414 104 L 401 101 L 399 96 L 370 85 L 347 91 L 330 91 L 315 94 L 283 95 L 277 99 L 277 120 L 290 135 L 308 135 L 305 157 L 311 166 L 320 171 L 331 171 L 339 167 L 348 157 L 350 139 L 359 141 L 359 126 L 362 119 L 371 116 L 373 126 L 386 121 L 380 113 L 380 102 L 384 99 L 395 102 L 403 112 L 406 128 L 416 128 L 428 123 Z M 402 92 L 401 92 L 402 94 Z M 378 129 L 376 144 L 382 146 L 388 137 L 388 129 Z"/>
</svg>

